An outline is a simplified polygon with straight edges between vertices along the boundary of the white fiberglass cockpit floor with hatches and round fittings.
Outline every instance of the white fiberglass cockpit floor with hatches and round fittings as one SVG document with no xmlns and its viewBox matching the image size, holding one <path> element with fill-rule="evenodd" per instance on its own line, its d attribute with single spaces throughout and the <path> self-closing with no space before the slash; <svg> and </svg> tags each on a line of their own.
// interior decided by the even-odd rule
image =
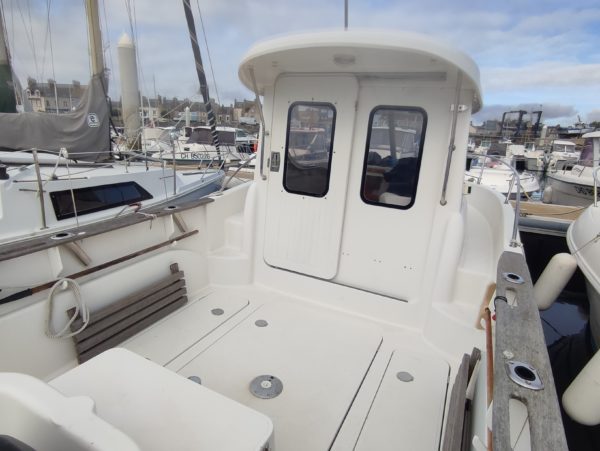
<svg viewBox="0 0 600 451">
<path fill-rule="evenodd" d="M 276 449 L 439 446 L 449 365 L 414 331 L 246 286 L 208 288 L 123 346 L 265 414 Z M 260 375 L 282 393 L 252 395 Z"/>
</svg>

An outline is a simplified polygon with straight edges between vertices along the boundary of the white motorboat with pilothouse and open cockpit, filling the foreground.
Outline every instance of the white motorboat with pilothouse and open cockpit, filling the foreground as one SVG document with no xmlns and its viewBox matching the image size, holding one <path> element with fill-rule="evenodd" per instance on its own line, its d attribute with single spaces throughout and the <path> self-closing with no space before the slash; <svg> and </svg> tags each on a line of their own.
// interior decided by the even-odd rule
<svg viewBox="0 0 600 451">
<path fill-rule="evenodd" d="M 80 237 L 105 262 L 83 272 L 60 247 L 0 261 L 2 293 L 23 289 L 0 299 L 14 419 L 0 434 L 38 449 L 566 450 L 513 209 L 464 184 L 475 63 L 348 30 L 265 41 L 239 76 L 264 96 L 253 182 L 181 209 L 180 231 L 160 216 Z M 295 152 L 298 128 L 325 139 Z"/>
</svg>

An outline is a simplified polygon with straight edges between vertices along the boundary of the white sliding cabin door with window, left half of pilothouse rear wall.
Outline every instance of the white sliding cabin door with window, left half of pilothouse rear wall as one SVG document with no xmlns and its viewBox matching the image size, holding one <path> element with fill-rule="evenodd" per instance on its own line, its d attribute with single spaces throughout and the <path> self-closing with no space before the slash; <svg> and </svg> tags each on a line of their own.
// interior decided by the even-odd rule
<svg viewBox="0 0 600 451">
<path fill-rule="evenodd" d="M 265 261 L 323 279 L 338 270 L 358 82 L 283 76 L 275 85 Z"/>
</svg>

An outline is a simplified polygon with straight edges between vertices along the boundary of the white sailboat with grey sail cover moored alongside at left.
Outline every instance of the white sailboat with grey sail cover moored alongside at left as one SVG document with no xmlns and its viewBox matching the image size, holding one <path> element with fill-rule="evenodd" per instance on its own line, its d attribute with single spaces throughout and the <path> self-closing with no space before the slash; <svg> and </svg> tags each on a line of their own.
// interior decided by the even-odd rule
<svg viewBox="0 0 600 451">
<path fill-rule="evenodd" d="M 111 159 L 96 1 L 87 2 L 93 76 L 80 104 L 61 115 L 0 113 L 0 245 L 48 241 L 81 226 L 203 197 L 220 188 L 218 167 L 175 168 Z M 95 18 L 95 19 L 94 19 Z M 4 33 L 1 33 L 4 36 Z M 26 132 L 24 132 L 26 130 Z M 147 213 L 147 212 L 146 212 Z"/>
</svg>

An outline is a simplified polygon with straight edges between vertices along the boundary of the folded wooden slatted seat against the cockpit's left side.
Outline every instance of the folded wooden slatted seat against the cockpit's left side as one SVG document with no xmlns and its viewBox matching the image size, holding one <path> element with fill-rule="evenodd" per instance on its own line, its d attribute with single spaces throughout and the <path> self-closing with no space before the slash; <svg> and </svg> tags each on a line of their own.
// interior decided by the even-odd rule
<svg viewBox="0 0 600 451">
<path fill-rule="evenodd" d="M 177 263 L 170 270 L 164 279 L 90 313 L 88 326 L 73 337 L 79 363 L 115 347 L 187 303 L 183 271 Z M 75 309 L 67 313 L 71 317 Z M 81 318 L 77 318 L 71 331 L 82 325 Z"/>
</svg>

